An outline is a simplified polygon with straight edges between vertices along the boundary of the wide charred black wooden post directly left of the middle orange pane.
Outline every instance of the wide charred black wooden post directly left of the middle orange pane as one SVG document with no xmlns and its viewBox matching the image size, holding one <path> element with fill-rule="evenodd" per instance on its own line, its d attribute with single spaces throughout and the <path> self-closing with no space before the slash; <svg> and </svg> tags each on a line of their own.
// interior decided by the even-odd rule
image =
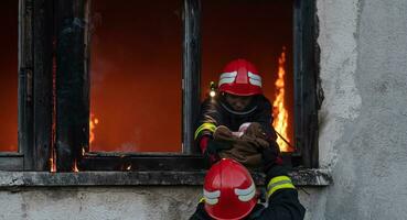
<svg viewBox="0 0 407 220">
<path fill-rule="evenodd" d="M 85 72 L 85 0 L 55 1 L 56 168 L 73 169 L 88 145 L 89 98 Z M 84 77 L 85 76 L 85 77 Z"/>
</svg>

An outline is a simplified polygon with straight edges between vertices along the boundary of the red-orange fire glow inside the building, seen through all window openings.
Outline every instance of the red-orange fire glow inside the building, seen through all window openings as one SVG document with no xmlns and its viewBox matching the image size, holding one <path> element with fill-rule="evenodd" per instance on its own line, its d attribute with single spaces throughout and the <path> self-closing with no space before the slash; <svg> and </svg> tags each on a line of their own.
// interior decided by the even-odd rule
<svg viewBox="0 0 407 220">
<path fill-rule="evenodd" d="M 86 50 L 90 57 L 83 75 L 89 78 L 89 116 L 88 146 L 77 146 L 82 154 L 85 150 L 182 153 L 182 3 L 86 2 L 84 41 L 88 42 Z M 0 150 L 17 152 L 19 4 L 11 0 L 2 4 L 8 10 L 1 16 L 10 29 L 1 35 L 4 113 Z M 202 68 L 200 88 L 195 88 L 201 94 L 199 102 L 208 96 L 211 81 L 217 81 L 227 62 L 235 58 L 253 62 L 264 77 L 265 96 L 272 103 L 275 120 L 270 125 L 279 133 L 280 148 L 293 152 L 292 2 L 237 1 L 232 6 L 229 1 L 202 2 Z M 55 10 L 49 16 L 57 18 L 57 7 L 51 7 Z M 248 9 L 250 15 L 246 13 Z M 56 33 L 63 24 L 53 25 Z M 62 87 L 56 41 L 54 37 L 51 48 L 52 74 L 46 76 L 53 78 L 51 139 L 58 135 L 60 128 L 55 125 L 60 100 L 55 90 Z M 53 170 L 57 157 L 54 141 L 49 152 Z"/>
</svg>

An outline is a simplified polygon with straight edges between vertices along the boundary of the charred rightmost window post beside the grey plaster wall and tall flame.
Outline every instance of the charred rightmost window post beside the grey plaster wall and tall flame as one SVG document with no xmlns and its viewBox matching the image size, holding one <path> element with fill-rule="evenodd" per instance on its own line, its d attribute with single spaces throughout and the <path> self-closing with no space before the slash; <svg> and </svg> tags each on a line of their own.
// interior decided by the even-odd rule
<svg viewBox="0 0 407 220">
<path fill-rule="evenodd" d="M 318 110 L 323 100 L 314 0 L 294 0 L 294 139 L 301 166 L 319 167 Z"/>
</svg>

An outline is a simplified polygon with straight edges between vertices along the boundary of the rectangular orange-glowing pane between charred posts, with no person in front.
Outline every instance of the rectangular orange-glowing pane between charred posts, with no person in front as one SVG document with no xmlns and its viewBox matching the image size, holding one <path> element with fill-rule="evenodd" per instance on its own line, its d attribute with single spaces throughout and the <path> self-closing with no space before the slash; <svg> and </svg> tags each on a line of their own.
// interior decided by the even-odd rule
<svg viewBox="0 0 407 220">
<path fill-rule="evenodd" d="M 181 151 L 181 1 L 93 1 L 90 151 Z"/>
</svg>

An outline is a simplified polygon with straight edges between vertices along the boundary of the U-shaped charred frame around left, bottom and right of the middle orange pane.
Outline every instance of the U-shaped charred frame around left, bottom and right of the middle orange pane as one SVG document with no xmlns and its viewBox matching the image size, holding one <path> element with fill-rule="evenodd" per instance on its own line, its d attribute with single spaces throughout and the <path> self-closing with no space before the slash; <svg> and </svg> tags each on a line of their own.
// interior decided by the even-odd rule
<svg viewBox="0 0 407 220">
<path fill-rule="evenodd" d="M 76 3 L 75 3 L 76 2 Z M 60 2 L 55 7 L 57 46 L 56 70 L 56 168 L 79 170 L 201 170 L 202 157 L 194 150 L 193 122 L 199 112 L 200 56 L 199 1 L 183 1 L 182 66 L 182 152 L 181 153 L 98 153 L 89 152 L 89 14 L 90 0 Z M 76 23 L 73 18 L 77 19 Z M 71 19 L 71 20 L 69 20 Z M 83 21 L 83 23 L 81 23 Z M 81 24 L 79 24 L 81 23 Z M 71 26 L 63 26 L 69 24 Z M 64 30 L 69 29 L 67 33 Z M 83 77 L 85 76 L 85 77 Z M 72 84 L 74 81 L 74 84 Z M 76 89 L 75 89 L 76 88 Z M 63 112 L 63 113 L 61 113 Z M 79 147 L 78 147 L 79 146 Z"/>
</svg>

